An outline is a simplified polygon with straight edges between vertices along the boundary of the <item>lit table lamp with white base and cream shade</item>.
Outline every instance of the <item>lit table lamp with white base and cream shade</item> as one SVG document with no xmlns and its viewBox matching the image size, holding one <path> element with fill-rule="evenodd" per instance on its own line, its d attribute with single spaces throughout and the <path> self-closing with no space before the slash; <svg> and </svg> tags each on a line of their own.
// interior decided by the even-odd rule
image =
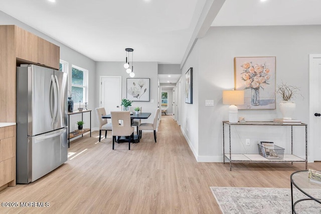
<svg viewBox="0 0 321 214">
<path fill-rule="evenodd" d="M 223 91 L 223 104 L 230 105 L 229 107 L 229 122 L 237 123 L 237 106 L 244 104 L 244 91 Z"/>
</svg>

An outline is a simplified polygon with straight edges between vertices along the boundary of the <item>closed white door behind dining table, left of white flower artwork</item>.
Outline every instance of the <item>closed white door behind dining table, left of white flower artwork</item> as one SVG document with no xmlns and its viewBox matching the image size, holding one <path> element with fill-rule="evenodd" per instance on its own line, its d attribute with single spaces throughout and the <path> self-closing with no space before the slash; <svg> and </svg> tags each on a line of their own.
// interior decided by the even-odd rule
<svg viewBox="0 0 321 214">
<path fill-rule="evenodd" d="M 121 76 L 100 76 L 100 107 L 106 114 L 121 111 Z"/>
</svg>

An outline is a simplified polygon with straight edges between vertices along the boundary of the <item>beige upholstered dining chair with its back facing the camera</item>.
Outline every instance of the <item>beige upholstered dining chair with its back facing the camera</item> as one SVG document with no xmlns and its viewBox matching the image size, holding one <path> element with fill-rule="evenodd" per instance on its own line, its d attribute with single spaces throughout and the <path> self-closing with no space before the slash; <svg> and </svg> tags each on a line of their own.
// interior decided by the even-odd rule
<svg viewBox="0 0 321 214">
<path fill-rule="evenodd" d="M 116 141 L 116 136 L 125 136 L 128 138 L 128 149 L 130 150 L 130 141 L 133 140 L 135 128 L 131 126 L 129 111 L 111 111 L 112 124 L 112 149 Z M 122 123 L 119 123 L 122 120 Z"/>
</svg>

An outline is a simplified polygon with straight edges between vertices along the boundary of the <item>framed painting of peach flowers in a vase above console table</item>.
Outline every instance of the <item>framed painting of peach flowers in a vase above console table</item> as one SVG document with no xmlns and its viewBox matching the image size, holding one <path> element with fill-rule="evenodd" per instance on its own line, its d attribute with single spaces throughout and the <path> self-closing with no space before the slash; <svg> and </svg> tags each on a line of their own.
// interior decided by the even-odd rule
<svg viewBox="0 0 321 214">
<path fill-rule="evenodd" d="M 238 109 L 275 109 L 275 57 L 235 57 L 235 90 L 244 90 Z"/>
</svg>

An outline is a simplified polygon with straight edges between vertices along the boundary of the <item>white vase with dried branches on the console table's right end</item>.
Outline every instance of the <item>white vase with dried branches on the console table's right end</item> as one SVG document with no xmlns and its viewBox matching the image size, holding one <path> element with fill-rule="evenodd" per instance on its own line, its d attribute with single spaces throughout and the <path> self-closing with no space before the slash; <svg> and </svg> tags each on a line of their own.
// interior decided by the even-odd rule
<svg viewBox="0 0 321 214">
<path fill-rule="evenodd" d="M 288 86 L 286 83 L 277 85 L 276 87 L 276 93 L 279 95 L 279 98 L 282 99 L 280 102 L 280 111 L 282 113 L 283 119 L 291 120 L 292 114 L 295 110 L 296 104 L 293 100 L 296 98 L 296 95 L 301 95 L 299 93 L 300 88 L 296 86 Z M 303 98 L 303 96 L 301 95 Z"/>
</svg>

